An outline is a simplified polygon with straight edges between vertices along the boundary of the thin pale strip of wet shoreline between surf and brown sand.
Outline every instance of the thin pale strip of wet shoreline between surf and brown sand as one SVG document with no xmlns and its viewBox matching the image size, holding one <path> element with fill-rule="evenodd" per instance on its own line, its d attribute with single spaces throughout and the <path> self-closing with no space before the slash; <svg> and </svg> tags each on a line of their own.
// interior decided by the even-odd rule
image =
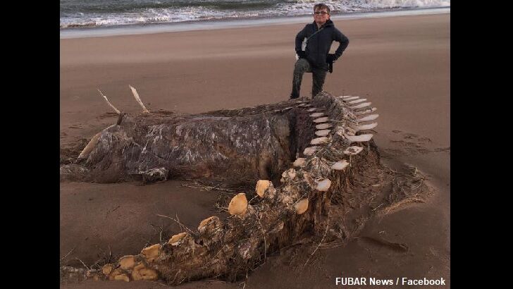
<svg viewBox="0 0 513 289">
<path fill-rule="evenodd" d="M 357 12 L 334 15 L 331 20 L 355 20 L 362 18 L 384 18 L 394 16 L 419 16 L 450 13 L 450 6 L 436 8 L 407 8 L 395 11 Z M 264 27 L 268 25 L 288 25 L 309 22 L 311 16 L 283 16 L 256 19 L 185 21 L 178 23 L 127 24 L 110 27 L 66 27 L 59 32 L 60 39 L 110 37 L 118 35 L 142 35 L 165 32 L 219 30 L 240 27 Z"/>
</svg>

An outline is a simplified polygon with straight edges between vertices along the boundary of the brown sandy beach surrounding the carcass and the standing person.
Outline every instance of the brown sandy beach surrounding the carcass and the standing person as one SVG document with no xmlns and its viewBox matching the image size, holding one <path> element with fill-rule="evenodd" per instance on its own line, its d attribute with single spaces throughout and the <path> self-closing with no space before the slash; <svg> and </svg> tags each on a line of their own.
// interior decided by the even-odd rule
<svg viewBox="0 0 513 289">
<path fill-rule="evenodd" d="M 137 89 L 149 110 L 173 113 L 286 100 L 294 39 L 303 26 L 61 39 L 61 147 L 88 140 L 116 122 L 97 89 L 127 113 L 141 111 L 128 85 Z M 249 273 L 246 288 L 335 288 L 335 277 L 342 276 L 445 278 L 447 285 L 441 288 L 449 288 L 450 14 L 337 20 L 335 26 L 350 38 L 350 45 L 328 74 L 324 90 L 369 99 L 380 115 L 374 139 L 383 164 L 415 166 L 427 176 L 434 194 L 426 203 L 370 220 L 360 234 L 403 243 L 407 252 L 356 238 L 345 247 L 318 250 L 303 266 L 304 252 L 292 247 Z M 301 95 L 310 93 L 307 73 Z M 159 241 L 161 229 L 165 236 L 180 232 L 173 221 L 157 214 L 178 216 L 190 228 L 218 214 L 214 203 L 223 197 L 221 192 L 183 184 L 190 185 L 180 180 L 147 186 L 61 183 L 61 257 L 74 248 L 63 262 L 81 266 L 80 259 L 90 266 L 109 250 L 118 257 L 137 254 Z M 87 281 L 61 288 L 93 285 L 159 286 Z M 240 285 L 197 281 L 181 288 Z"/>
</svg>

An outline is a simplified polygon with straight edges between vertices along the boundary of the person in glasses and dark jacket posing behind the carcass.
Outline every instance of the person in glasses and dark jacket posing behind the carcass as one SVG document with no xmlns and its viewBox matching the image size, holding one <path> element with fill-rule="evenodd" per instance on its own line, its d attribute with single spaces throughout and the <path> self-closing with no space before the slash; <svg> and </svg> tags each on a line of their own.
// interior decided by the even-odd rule
<svg viewBox="0 0 513 289">
<path fill-rule="evenodd" d="M 303 39 L 307 39 L 307 47 L 302 51 Z M 340 42 L 335 54 L 329 54 L 331 43 Z M 349 44 L 349 39 L 340 32 L 333 21 L 330 20 L 330 8 L 326 4 L 316 4 L 314 6 L 314 23 L 304 26 L 296 35 L 296 53 L 297 59 L 294 67 L 294 77 L 292 79 L 292 93 L 290 99 L 299 97 L 301 81 L 305 72 L 311 72 L 313 85 L 311 97 L 315 97 L 323 90 L 324 80 L 328 69 L 333 61 L 342 56 L 342 52 Z"/>
</svg>

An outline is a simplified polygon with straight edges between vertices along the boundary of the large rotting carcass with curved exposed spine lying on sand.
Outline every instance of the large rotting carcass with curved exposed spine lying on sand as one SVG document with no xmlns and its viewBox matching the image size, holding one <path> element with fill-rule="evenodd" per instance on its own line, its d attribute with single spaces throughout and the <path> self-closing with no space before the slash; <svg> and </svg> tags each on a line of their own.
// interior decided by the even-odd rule
<svg viewBox="0 0 513 289">
<path fill-rule="evenodd" d="M 369 122 L 378 117 L 370 114 L 376 111 L 370 102 L 362 104 L 366 99 L 321 92 L 314 99 L 163 116 L 148 111 L 130 89 L 143 113 L 121 113 L 102 94 L 118 122 L 92 137 L 75 164 L 61 166 L 63 180 L 201 178 L 251 183 L 255 192 L 233 197 L 230 218 L 211 216 L 196 233 L 173 235 L 101 271 L 79 272 L 88 278 L 161 279 L 173 285 L 214 276 L 234 280 L 304 232 L 328 230 L 324 216 L 333 195 L 350 190 L 355 173 L 380 167 L 373 135 L 364 133 L 376 127 Z M 370 198 L 361 196 L 364 202 Z M 72 270 L 66 268 L 61 270 Z"/>
</svg>

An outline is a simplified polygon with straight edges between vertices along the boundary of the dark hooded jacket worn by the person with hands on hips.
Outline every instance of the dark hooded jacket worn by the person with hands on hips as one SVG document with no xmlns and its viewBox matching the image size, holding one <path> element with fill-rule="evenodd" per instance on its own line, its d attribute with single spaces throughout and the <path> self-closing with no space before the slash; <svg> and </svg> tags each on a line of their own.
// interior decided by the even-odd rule
<svg viewBox="0 0 513 289">
<path fill-rule="evenodd" d="M 321 31 L 309 38 L 317 30 Z M 315 21 L 304 26 L 303 30 L 299 31 L 296 35 L 296 51 L 301 51 L 301 44 L 304 38 L 309 38 L 307 48 L 304 49 L 308 62 L 311 66 L 326 70 L 328 70 L 326 57 L 330 52 L 331 42 L 340 42 L 337 51 L 335 51 L 335 60 L 342 56 L 342 52 L 349 45 L 349 39 L 335 27 L 331 20 L 326 21 L 319 29 Z"/>
</svg>

